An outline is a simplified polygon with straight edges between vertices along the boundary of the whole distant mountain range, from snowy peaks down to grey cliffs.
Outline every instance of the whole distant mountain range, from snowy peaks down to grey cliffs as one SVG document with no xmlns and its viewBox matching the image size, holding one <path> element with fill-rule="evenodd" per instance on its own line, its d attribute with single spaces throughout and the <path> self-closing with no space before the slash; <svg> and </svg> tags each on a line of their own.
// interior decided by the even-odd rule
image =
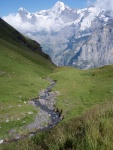
<svg viewBox="0 0 113 150">
<path fill-rule="evenodd" d="M 109 45 L 112 37 L 112 32 L 105 27 L 112 18 L 111 13 L 96 5 L 75 10 L 58 1 L 51 9 L 36 13 L 20 8 L 12 18 L 18 23 L 10 17 L 4 20 L 38 41 L 56 65 L 87 69 L 113 63 L 107 54 L 111 54 L 111 48 L 106 46 L 103 50 L 103 43 Z"/>
</svg>

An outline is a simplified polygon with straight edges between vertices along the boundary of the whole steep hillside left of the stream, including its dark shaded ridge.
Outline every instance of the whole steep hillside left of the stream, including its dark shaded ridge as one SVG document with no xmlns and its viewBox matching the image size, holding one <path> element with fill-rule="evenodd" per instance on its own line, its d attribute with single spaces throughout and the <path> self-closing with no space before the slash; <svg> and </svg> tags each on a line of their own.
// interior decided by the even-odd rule
<svg viewBox="0 0 113 150">
<path fill-rule="evenodd" d="M 42 78 L 55 66 L 40 45 L 23 37 L 0 19 L 0 139 L 37 113 L 27 101 L 49 84 Z M 9 121 L 8 121 L 9 120 Z"/>
</svg>

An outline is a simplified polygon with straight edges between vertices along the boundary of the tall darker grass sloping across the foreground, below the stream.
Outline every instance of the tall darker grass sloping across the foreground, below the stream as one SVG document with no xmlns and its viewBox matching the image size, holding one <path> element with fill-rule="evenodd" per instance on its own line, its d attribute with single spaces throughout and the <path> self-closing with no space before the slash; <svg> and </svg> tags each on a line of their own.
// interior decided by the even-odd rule
<svg viewBox="0 0 113 150">
<path fill-rule="evenodd" d="M 2 150 L 112 150 L 113 101 L 95 105 L 81 116 L 71 119 L 32 139 L 1 145 Z"/>
</svg>

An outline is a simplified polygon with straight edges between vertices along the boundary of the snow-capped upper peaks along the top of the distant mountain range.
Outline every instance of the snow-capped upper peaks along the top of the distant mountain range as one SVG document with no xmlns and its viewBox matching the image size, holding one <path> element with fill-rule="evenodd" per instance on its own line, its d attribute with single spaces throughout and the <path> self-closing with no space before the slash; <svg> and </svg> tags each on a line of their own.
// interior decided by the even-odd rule
<svg viewBox="0 0 113 150">
<path fill-rule="evenodd" d="M 101 12 L 101 9 L 95 5 L 76 10 L 60 1 L 48 10 L 30 13 L 26 9 L 20 8 L 17 14 L 20 17 L 20 22 L 22 21 L 23 27 L 27 23 L 28 27 L 32 27 L 36 32 L 43 30 L 56 32 L 71 25 L 78 28 L 78 32 L 88 32 L 88 28 L 93 30 L 96 26 L 101 25 L 102 22 L 106 24 L 106 21 L 109 19 L 108 13 L 105 13 L 105 11 Z"/>
</svg>

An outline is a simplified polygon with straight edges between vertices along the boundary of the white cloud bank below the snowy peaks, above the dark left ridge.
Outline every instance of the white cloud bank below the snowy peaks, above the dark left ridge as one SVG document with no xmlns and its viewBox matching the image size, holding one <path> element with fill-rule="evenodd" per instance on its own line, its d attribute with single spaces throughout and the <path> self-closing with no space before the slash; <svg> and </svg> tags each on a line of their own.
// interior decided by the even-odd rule
<svg viewBox="0 0 113 150">
<path fill-rule="evenodd" d="M 55 21 L 55 16 L 43 16 L 38 15 L 35 23 L 31 23 L 29 21 L 23 22 L 19 13 L 17 14 L 9 14 L 8 16 L 4 16 L 3 19 L 13 26 L 15 29 L 19 30 L 22 33 L 25 32 L 37 32 L 41 30 L 51 31 L 51 30 L 59 30 L 63 25 L 62 20 Z"/>
</svg>

